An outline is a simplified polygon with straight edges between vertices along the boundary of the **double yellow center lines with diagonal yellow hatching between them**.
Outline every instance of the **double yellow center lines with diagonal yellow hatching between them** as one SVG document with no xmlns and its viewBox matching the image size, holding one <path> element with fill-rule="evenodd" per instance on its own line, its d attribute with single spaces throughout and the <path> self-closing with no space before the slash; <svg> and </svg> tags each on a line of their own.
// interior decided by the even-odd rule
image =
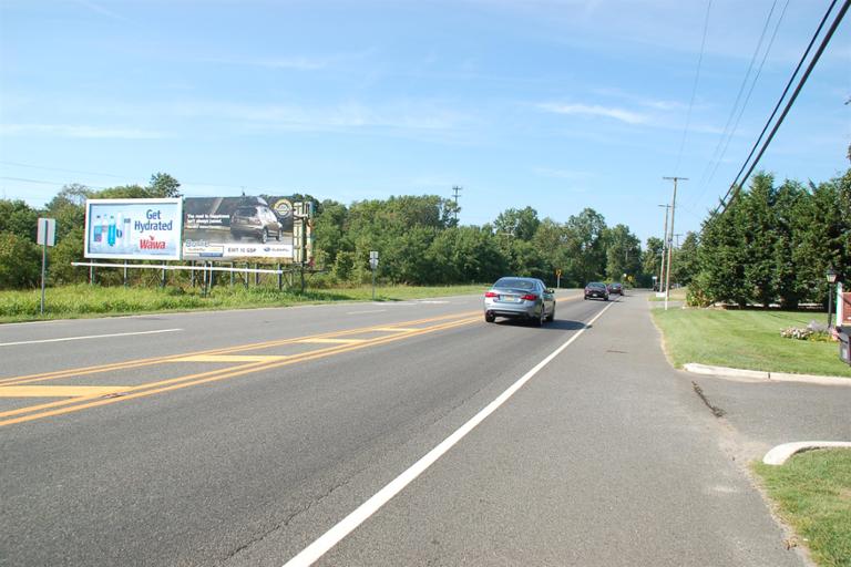
<svg viewBox="0 0 851 567">
<path fill-rule="evenodd" d="M 135 400 L 197 384 L 244 377 L 246 374 L 263 372 L 289 364 L 307 362 L 368 347 L 400 341 L 411 337 L 452 329 L 480 320 L 480 311 L 469 311 L 464 313 L 406 321 L 398 324 L 363 327 L 347 331 L 242 344 L 224 349 L 137 359 L 95 367 L 0 379 L 0 398 L 66 398 L 53 402 L 0 412 L 0 426 L 62 415 L 127 400 Z M 380 336 L 375 337 L 376 333 L 380 333 Z M 371 337 L 365 337 L 370 334 Z M 298 354 L 245 354 L 252 351 L 263 351 L 287 344 L 322 344 L 327 347 Z M 80 377 L 90 377 L 94 374 L 106 374 L 111 377 L 119 371 L 181 362 L 235 363 L 236 365 L 180 375 L 155 382 L 146 382 L 132 386 L 43 385 L 45 382 L 61 379 L 76 380 Z"/>
</svg>

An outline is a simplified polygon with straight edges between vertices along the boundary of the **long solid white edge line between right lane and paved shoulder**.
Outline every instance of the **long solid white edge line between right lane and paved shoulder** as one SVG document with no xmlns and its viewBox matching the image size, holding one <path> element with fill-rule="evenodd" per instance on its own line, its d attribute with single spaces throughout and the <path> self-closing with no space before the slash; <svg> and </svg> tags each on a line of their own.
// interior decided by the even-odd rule
<svg viewBox="0 0 851 567">
<path fill-rule="evenodd" d="M 406 486 L 408 486 L 414 478 L 422 474 L 427 468 L 434 464 L 443 454 L 452 449 L 459 441 L 464 439 L 468 433 L 473 431 L 476 425 L 484 421 L 489 415 L 495 412 L 502 404 L 504 404 L 514 393 L 523 388 L 523 385 L 532 380 L 544 367 L 546 367 L 555 357 L 562 353 L 564 349 L 571 346 L 573 341 L 578 339 L 584 333 L 588 326 L 594 324 L 603 313 L 608 310 L 614 303 L 606 306 L 601 312 L 594 316 L 591 321 L 585 323 L 585 328 L 581 329 L 576 334 L 567 339 L 567 341 L 555 349 L 544 360 L 539 362 L 535 368 L 526 372 L 520 380 L 514 382 L 507 390 L 505 390 L 499 398 L 484 406 L 479 413 L 476 413 L 470 421 L 461 425 L 454 433 L 443 440 L 438 446 L 429 451 L 419 461 L 412 464 L 407 471 L 393 478 L 388 485 L 378 491 L 367 502 L 358 506 L 351 514 L 342 518 L 336 526 L 326 532 L 312 544 L 303 549 L 298 555 L 293 557 L 284 567 L 308 567 L 312 565 L 322 555 L 328 553 L 335 545 L 340 543 L 346 536 L 353 532 L 359 525 L 366 522 L 372 514 L 378 512 L 385 504 L 387 504 L 393 496 L 399 494 Z"/>
</svg>

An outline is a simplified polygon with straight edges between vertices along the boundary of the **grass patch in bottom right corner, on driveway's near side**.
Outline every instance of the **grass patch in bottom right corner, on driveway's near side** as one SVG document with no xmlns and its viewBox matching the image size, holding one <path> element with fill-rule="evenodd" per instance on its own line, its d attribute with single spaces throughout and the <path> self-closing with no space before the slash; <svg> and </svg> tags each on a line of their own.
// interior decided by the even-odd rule
<svg viewBox="0 0 851 567">
<path fill-rule="evenodd" d="M 851 566 L 851 451 L 809 451 L 753 470 L 818 565 Z"/>
</svg>

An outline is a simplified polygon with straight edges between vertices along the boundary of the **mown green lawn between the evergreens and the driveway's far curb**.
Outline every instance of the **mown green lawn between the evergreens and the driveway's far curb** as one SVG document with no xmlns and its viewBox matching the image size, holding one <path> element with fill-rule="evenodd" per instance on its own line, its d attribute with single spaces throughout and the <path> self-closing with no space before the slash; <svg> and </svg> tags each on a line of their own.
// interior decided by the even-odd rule
<svg viewBox="0 0 851 567">
<path fill-rule="evenodd" d="M 819 312 L 653 309 L 665 349 L 677 368 L 688 362 L 769 372 L 851 378 L 835 342 L 783 339 L 788 327 L 822 322 Z M 827 321 L 823 321 L 827 322 Z"/>
</svg>

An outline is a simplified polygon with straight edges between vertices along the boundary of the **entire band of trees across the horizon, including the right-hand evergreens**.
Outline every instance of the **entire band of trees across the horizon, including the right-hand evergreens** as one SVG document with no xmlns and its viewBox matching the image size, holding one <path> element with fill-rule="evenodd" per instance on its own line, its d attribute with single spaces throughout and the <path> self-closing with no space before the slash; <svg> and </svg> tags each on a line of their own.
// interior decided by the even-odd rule
<svg viewBox="0 0 851 567">
<path fill-rule="evenodd" d="M 0 288 L 38 286 L 41 252 L 37 218 L 57 219 L 57 246 L 49 250 L 51 284 L 85 281 L 83 261 L 86 198 L 180 196 L 180 183 L 157 173 L 146 186 L 92 190 L 68 185 L 43 208 L 0 200 Z M 591 280 L 650 287 L 662 276 L 663 239 L 645 246 L 625 225 L 609 227 L 592 208 L 565 221 L 540 218 L 532 207 L 509 208 L 492 223 L 460 225 L 459 207 L 437 195 L 393 196 L 349 205 L 312 200 L 316 285 L 358 285 L 371 279 L 369 252 L 379 252 L 379 277 L 388 284 L 486 284 L 513 274 L 554 286 Z M 709 215 L 700 233 L 688 233 L 674 250 L 671 282 L 688 286 L 693 305 L 827 302 L 828 267 L 851 274 L 851 169 L 820 184 L 756 175 L 722 214 Z M 139 270 L 133 276 L 144 284 Z M 180 276 L 177 276 L 180 277 Z M 117 270 L 101 284 L 120 284 Z"/>
</svg>

